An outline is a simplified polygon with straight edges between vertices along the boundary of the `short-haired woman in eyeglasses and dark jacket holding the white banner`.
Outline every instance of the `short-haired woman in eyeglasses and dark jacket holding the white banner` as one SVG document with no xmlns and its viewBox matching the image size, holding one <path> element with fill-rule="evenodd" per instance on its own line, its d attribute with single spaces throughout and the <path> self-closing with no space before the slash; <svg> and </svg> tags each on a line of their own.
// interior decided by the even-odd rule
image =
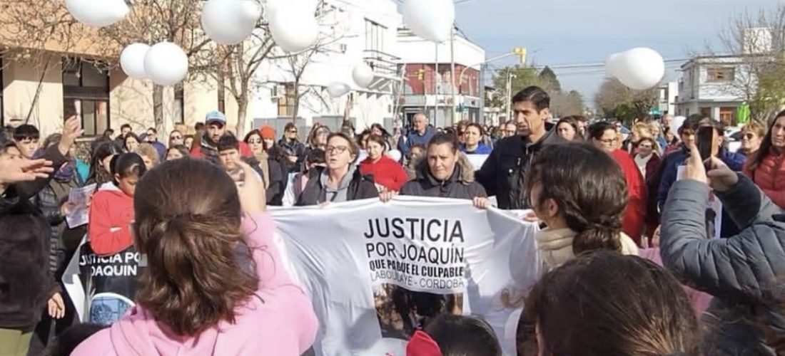
<svg viewBox="0 0 785 356">
<path fill-rule="evenodd" d="M 360 147 L 348 135 L 330 134 L 324 149 L 327 167 L 314 167 L 295 205 L 304 207 L 378 197 L 373 178 L 364 176 L 355 165 L 359 153 Z"/>
</svg>

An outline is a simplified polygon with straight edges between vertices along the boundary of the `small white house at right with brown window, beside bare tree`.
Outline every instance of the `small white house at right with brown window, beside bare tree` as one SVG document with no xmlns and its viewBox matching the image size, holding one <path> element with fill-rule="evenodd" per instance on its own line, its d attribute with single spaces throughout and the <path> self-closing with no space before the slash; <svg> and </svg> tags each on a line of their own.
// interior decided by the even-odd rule
<svg viewBox="0 0 785 356">
<path fill-rule="evenodd" d="M 739 56 L 699 56 L 681 66 L 676 114 L 700 113 L 730 123 L 744 102 L 750 73 Z"/>
</svg>

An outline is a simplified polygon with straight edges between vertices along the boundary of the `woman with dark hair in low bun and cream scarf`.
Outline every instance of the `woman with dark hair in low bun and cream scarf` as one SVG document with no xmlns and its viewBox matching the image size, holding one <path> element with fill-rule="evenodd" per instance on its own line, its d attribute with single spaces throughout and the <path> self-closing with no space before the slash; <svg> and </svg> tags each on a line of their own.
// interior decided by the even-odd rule
<svg viewBox="0 0 785 356">
<path fill-rule="evenodd" d="M 535 214 L 546 225 L 535 236 L 548 269 L 588 250 L 637 254 L 622 232 L 627 186 L 612 156 L 584 143 L 543 149 L 526 179 Z"/>
</svg>

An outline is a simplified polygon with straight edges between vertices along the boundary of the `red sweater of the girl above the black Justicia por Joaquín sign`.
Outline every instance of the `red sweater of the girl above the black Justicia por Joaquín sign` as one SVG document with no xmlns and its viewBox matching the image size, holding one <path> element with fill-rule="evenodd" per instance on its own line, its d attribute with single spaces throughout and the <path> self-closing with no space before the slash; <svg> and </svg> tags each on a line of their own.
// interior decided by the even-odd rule
<svg viewBox="0 0 785 356">
<path fill-rule="evenodd" d="M 112 186 L 93 195 L 87 225 L 90 247 L 100 256 L 117 254 L 133 245 L 133 196 Z"/>
</svg>

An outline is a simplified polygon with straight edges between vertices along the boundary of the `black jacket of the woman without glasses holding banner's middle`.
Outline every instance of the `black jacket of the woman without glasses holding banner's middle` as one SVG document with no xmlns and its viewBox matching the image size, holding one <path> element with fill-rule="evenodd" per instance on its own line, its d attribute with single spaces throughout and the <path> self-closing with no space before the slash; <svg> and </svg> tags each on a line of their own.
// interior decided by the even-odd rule
<svg viewBox="0 0 785 356">
<path fill-rule="evenodd" d="M 403 196 L 431 196 L 435 198 L 473 199 L 487 197 L 485 189 L 474 181 L 474 169 L 463 153 L 458 153 L 455 171 L 446 181 L 433 177 L 428 160 L 422 159 L 417 164 L 417 176 L 400 189 Z"/>
</svg>

